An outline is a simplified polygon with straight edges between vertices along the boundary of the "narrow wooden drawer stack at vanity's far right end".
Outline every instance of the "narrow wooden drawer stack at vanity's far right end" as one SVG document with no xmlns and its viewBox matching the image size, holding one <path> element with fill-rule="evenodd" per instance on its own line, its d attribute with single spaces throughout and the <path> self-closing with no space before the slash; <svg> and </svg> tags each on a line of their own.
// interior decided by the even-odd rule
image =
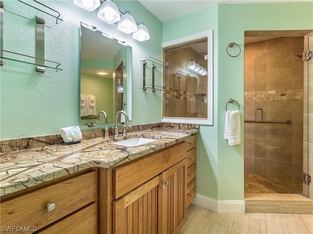
<svg viewBox="0 0 313 234">
<path fill-rule="evenodd" d="M 196 197 L 196 161 L 197 161 L 197 135 L 192 135 L 188 140 L 187 151 L 187 207 Z"/>
</svg>

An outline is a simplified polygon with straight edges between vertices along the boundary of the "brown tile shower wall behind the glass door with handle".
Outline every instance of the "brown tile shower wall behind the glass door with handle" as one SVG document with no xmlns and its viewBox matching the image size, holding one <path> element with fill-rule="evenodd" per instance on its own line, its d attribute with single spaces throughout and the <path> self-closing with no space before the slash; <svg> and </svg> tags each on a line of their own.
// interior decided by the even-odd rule
<svg viewBox="0 0 313 234">
<path fill-rule="evenodd" d="M 245 122 L 245 172 L 299 182 L 303 169 L 303 37 L 282 37 L 245 45 L 245 119 L 264 110 L 264 119 Z M 258 116 L 258 119 L 260 116 Z M 302 191 L 301 191 L 302 192 Z"/>
</svg>

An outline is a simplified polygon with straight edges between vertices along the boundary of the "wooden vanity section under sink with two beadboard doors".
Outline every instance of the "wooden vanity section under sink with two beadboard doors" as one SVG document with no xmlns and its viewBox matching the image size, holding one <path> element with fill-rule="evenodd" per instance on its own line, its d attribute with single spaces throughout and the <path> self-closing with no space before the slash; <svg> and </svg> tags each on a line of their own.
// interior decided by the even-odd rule
<svg viewBox="0 0 313 234">
<path fill-rule="evenodd" d="M 117 166 L 112 196 L 99 201 L 99 233 L 178 233 L 186 220 L 187 143 Z M 99 182 L 110 186 L 110 181 Z M 99 190 L 101 194 L 106 192 Z M 110 204 L 112 202 L 112 210 Z M 102 204 L 102 207 L 101 207 Z M 110 217 L 112 214 L 112 217 Z M 103 215 L 103 216 L 102 216 Z M 105 222 L 103 217 L 108 218 Z M 112 227 L 110 227 L 110 218 Z"/>
</svg>

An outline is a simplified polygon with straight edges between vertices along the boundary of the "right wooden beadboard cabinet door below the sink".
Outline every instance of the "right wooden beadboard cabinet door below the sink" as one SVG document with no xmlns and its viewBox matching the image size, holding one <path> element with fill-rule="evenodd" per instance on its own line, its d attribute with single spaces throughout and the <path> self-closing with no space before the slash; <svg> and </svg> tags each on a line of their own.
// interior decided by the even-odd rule
<svg viewBox="0 0 313 234">
<path fill-rule="evenodd" d="M 159 233 L 178 233 L 186 221 L 186 159 L 162 173 L 164 190 L 160 197 Z"/>
</svg>

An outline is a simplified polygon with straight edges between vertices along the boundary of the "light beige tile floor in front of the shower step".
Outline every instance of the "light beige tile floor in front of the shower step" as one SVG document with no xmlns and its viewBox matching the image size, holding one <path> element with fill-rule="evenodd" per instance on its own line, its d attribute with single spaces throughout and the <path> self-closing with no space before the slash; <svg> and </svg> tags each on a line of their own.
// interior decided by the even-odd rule
<svg viewBox="0 0 313 234">
<path fill-rule="evenodd" d="M 191 204 L 179 234 L 313 234 L 313 215 L 217 214 Z"/>
</svg>

